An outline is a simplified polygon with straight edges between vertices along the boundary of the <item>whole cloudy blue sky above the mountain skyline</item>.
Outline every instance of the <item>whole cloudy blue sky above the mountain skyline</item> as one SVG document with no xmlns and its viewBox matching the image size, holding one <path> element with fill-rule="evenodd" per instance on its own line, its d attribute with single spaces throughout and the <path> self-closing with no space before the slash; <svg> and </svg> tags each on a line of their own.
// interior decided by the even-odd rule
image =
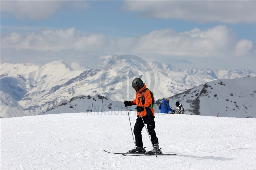
<svg viewBox="0 0 256 170">
<path fill-rule="evenodd" d="M 1 62 L 97 67 L 104 56 L 132 54 L 181 69 L 255 72 L 255 8 L 255 1 L 1 1 Z"/>
</svg>

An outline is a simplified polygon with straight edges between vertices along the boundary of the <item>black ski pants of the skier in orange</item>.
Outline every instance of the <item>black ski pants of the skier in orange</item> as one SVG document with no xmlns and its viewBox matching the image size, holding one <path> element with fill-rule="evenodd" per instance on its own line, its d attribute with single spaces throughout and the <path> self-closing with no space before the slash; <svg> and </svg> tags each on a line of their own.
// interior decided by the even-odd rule
<svg viewBox="0 0 256 170">
<path fill-rule="evenodd" d="M 156 132 L 155 132 L 155 127 L 156 127 L 155 121 L 154 121 L 155 116 L 144 116 L 142 118 L 143 118 L 144 123 L 147 125 L 147 130 L 151 137 L 152 144 L 153 145 L 157 144 L 158 138 L 156 137 Z M 135 123 L 134 129 L 133 129 L 133 133 L 135 135 L 135 145 L 138 147 L 143 146 L 141 131 L 144 127 L 144 123 L 142 121 L 142 118 L 137 116 L 136 123 Z"/>
</svg>

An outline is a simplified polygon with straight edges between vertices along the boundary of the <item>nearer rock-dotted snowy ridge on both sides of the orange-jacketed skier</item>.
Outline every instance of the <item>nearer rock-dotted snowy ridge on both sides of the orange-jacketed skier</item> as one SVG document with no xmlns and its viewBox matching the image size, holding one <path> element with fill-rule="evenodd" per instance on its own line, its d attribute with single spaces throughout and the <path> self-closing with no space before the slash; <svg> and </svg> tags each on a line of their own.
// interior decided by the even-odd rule
<svg viewBox="0 0 256 170">
<path fill-rule="evenodd" d="M 192 88 L 180 94 L 170 97 L 170 106 L 175 109 L 175 103 L 181 102 L 184 114 L 256 118 L 256 78 L 218 79 Z M 246 84 L 246 86 L 244 86 Z M 155 113 L 160 113 L 158 106 L 163 99 L 156 101 Z M 80 113 L 91 112 L 92 97 L 79 96 L 42 114 Z M 135 106 L 128 107 L 129 111 L 135 111 Z M 93 103 L 93 112 L 126 111 L 123 102 L 96 98 Z M 95 114 L 95 113 L 94 113 Z"/>
</svg>

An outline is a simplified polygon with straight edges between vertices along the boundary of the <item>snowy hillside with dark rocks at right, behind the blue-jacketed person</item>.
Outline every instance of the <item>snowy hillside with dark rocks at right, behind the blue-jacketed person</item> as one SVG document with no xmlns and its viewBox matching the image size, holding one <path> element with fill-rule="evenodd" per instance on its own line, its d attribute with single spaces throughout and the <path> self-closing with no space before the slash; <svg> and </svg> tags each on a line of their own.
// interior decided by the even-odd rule
<svg viewBox="0 0 256 170">
<path fill-rule="evenodd" d="M 177 101 L 182 103 L 184 114 L 256 118 L 256 78 L 218 79 L 169 99 L 172 109 Z"/>
</svg>

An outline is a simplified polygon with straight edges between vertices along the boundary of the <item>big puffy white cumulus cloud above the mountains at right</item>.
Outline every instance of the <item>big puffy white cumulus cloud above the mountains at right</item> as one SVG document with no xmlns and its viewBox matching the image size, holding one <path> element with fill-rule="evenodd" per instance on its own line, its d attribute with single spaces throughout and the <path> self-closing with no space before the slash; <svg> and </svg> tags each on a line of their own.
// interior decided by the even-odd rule
<svg viewBox="0 0 256 170">
<path fill-rule="evenodd" d="M 183 33 L 170 28 L 154 30 L 136 38 L 132 48 L 135 53 L 175 56 L 225 57 L 255 54 L 251 40 L 244 39 L 238 42 L 236 35 L 225 25 L 208 30 L 194 28 Z"/>
</svg>

